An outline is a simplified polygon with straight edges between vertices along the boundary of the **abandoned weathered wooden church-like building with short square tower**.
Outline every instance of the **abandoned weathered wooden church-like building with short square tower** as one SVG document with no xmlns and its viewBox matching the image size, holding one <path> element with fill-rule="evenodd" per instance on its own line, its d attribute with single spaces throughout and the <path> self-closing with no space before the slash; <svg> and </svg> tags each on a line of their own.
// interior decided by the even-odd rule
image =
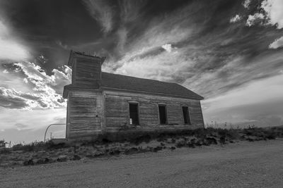
<svg viewBox="0 0 283 188">
<path fill-rule="evenodd" d="M 180 84 L 104 73 L 105 58 L 71 51 L 67 99 L 67 139 L 103 132 L 204 127 L 202 96 Z"/>
</svg>

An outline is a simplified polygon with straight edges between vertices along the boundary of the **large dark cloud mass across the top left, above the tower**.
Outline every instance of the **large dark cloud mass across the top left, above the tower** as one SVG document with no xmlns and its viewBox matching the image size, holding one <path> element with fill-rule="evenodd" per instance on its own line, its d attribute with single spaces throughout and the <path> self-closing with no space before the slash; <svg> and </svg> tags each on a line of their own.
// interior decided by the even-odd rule
<svg viewBox="0 0 283 188">
<path fill-rule="evenodd" d="M 0 3 L 0 15 L 10 24 L 13 34 L 30 47 L 34 56 L 42 54 L 49 58 L 45 68 L 50 71 L 54 66 L 66 63 L 70 49 L 91 54 L 106 49 L 116 54 L 115 44 L 120 44 L 120 48 L 124 46 L 124 39 L 119 35 L 123 28 L 131 32 L 129 38 L 140 35 L 149 27 L 152 17 L 184 4 L 187 1 L 4 0 Z M 107 36 L 100 27 L 104 18 L 112 22 L 109 26 L 112 32 Z M 98 45 L 99 40 L 102 42 Z"/>
</svg>

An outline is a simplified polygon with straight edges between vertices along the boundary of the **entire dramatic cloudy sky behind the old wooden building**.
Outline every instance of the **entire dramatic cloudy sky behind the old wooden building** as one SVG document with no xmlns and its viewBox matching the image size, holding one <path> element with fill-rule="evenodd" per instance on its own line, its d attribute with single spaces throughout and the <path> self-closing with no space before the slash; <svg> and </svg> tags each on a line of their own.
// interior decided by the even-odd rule
<svg viewBox="0 0 283 188">
<path fill-rule="evenodd" d="M 106 72 L 192 89 L 205 123 L 282 125 L 282 10 L 282 0 L 1 0 L 0 139 L 42 140 L 65 123 L 71 49 L 106 56 Z"/>
</svg>

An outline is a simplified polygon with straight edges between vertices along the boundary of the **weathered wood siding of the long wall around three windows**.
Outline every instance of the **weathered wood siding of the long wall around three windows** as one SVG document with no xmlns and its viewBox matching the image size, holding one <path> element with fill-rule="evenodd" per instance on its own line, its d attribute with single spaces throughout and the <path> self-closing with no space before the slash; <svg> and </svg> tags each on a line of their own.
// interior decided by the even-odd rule
<svg viewBox="0 0 283 188">
<path fill-rule="evenodd" d="M 200 101 L 175 97 L 154 96 L 146 94 L 131 94 L 127 92 L 103 93 L 105 100 L 105 130 L 116 132 L 120 130 L 141 129 L 158 130 L 161 128 L 190 129 L 204 127 Z M 129 125 L 129 102 L 139 104 L 139 124 Z M 168 125 L 159 124 L 158 104 L 166 104 Z M 191 125 L 183 123 L 182 106 L 188 106 Z"/>
</svg>

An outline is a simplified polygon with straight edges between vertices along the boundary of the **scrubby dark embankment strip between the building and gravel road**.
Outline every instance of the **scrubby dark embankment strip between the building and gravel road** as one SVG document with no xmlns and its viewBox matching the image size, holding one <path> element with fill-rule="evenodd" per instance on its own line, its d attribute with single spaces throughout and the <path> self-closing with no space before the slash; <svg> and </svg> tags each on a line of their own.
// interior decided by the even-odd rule
<svg viewBox="0 0 283 188">
<path fill-rule="evenodd" d="M 103 134 L 88 142 L 54 144 L 33 142 L 18 144 L 0 151 L 0 168 L 15 165 L 41 165 L 84 158 L 101 158 L 133 153 L 172 151 L 176 148 L 195 148 L 214 144 L 229 144 L 248 140 L 270 140 L 283 137 L 283 127 L 248 128 L 245 130 L 198 129 L 175 132 L 134 132 L 133 134 Z"/>
</svg>

